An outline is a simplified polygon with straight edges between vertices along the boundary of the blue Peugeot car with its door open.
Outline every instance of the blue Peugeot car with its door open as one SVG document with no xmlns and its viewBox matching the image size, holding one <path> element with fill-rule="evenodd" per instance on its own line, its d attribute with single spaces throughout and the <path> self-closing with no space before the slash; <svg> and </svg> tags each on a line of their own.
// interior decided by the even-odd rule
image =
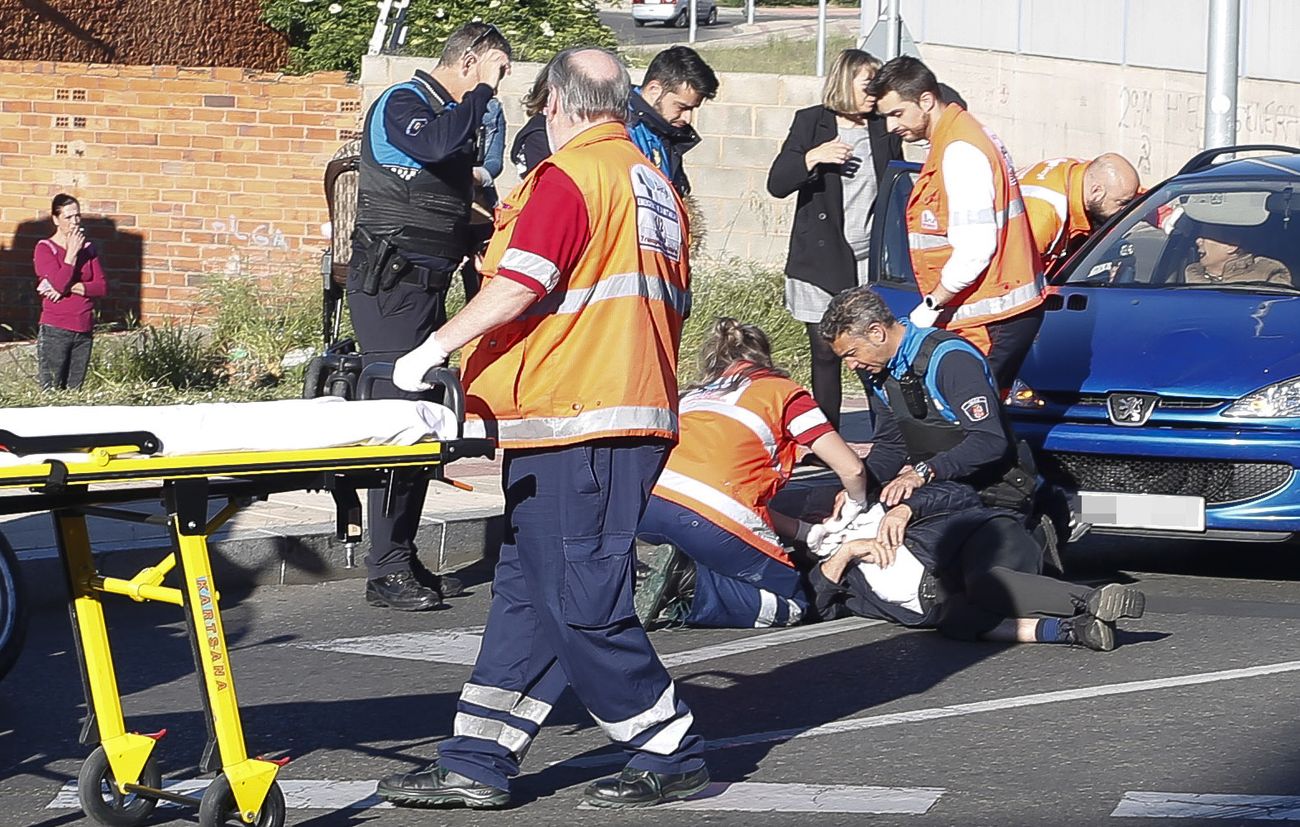
<svg viewBox="0 0 1300 827">
<path fill-rule="evenodd" d="M 1300 150 L 1253 151 L 1271 153 L 1197 155 L 1052 278 L 1006 404 L 1093 531 L 1300 532 Z M 904 222 L 918 169 L 890 165 L 876 203 L 871 277 L 897 313 L 919 296 Z"/>
</svg>

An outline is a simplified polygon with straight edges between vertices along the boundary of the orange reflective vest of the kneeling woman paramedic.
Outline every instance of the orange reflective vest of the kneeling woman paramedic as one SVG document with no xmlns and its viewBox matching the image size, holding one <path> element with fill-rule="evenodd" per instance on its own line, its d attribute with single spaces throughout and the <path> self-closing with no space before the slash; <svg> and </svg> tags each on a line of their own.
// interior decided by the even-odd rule
<svg viewBox="0 0 1300 827">
<path fill-rule="evenodd" d="M 785 408 L 807 391 L 784 376 L 731 387 L 729 373 L 681 398 L 681 441 L 654 493 L 793 567 L 767 502 L 794 468 L 797 445 L 785 433 Z"/>
</svg>

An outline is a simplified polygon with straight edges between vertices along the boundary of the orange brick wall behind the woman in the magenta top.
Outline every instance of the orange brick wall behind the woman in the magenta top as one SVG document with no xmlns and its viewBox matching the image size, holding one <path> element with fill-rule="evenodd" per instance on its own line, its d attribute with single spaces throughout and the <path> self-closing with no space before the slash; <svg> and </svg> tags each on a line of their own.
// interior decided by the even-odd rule
<svg viewBox="0 0 1300 827">
<path fill-rule="evenodd" d="M 342 73 L 0 61 L 0 321 L 35 322 L 57 192 L 103 252 L 109 319 L 188 316 L 207 274 L 315 269 L 325 163 L 359 122 Z"/>
</svg>

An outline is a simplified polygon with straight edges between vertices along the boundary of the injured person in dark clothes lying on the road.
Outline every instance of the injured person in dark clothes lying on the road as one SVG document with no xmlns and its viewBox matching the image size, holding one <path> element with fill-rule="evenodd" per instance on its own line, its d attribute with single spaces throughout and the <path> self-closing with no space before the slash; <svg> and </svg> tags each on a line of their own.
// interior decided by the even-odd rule
<svg viewBox="0 0 1300 827">
<path fill-rule="evenodd" d="M 809 576 L 822 620 L 858 615 L 956 640 L 1110 651 L 1115 620 L 1140 618 L 1147 605 L 1131 586 L 1089 589 L 1040 575 L 1043 549 L 1019 515 L 984 506 L 963 482 L 918 488 L 888 511 L 874 506 L 827 536 L 827 550 Z"/>
</svg>

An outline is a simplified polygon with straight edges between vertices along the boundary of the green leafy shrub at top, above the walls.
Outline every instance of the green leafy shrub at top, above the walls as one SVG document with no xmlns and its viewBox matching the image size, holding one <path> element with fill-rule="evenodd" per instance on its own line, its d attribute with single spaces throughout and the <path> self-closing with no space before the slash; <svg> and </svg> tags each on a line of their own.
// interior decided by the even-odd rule
<svg viewBox="0 0 1300 827">
<path fill-rule="evenodd" d="M 263 17 L 290 43 L 289 72 L 360 72 L 377 17 L 374 0 L 264 0 Z M 515 60 L 546 61 L 571 46 L 614 48 L 594 0 L 411 0 L 403 53 L 437 57 L 468 21 L 494 23 Z"/>
</svg>

